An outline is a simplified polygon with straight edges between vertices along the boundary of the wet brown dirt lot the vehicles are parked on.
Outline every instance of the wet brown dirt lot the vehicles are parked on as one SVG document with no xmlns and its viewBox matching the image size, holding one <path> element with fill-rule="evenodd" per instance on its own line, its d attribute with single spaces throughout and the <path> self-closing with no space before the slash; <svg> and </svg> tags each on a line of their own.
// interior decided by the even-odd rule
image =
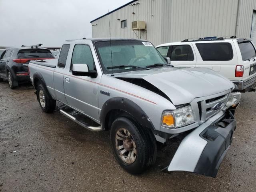
<svg viewBox="0 0 256 192">
<path fill-rule="evenodd" d="M 109 133 L 80 127 L 58 111 L 42 113 L 32 86 L 0 83 L 0 191 L 256 191 L 256 93 L 242 94 L 238 128 L 216 178 L 161 172 L 178 140 L 156 164 L 128 174 L 112 155 Z M 16 152 L 14 152 L 16 151 Z"/>
</svg>

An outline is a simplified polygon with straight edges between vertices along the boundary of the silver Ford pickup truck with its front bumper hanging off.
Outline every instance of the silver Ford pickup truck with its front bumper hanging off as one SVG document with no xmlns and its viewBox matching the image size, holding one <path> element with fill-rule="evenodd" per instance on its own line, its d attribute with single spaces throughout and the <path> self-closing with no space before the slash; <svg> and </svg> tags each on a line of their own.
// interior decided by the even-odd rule
<svg viewBox="0 0 256 192">
<path fill-rule="evenodd" d="M 215 177 L 236 129 L 241 98 L 234 84 L 207 68 L 174 68 L 138 39 L 64 42 L 58 59 L 29 63 L 42 110 L 91 131 L 110 130 L 114 156 L 132 174 L 154 164 L 156 142 L 185 134 L 168 171 Z"/>
</svg>

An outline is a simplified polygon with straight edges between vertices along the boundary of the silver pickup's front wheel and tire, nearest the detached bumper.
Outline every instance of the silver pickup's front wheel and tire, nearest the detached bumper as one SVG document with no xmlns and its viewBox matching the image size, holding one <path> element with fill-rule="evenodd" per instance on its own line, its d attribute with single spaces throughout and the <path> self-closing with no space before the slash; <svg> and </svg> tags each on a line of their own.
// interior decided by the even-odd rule
<svg viewBox="0 0 256 192">
<path fill-rule="evenodd" d="M 120 166 L 131 174 L 142 173 L 156 160 L 156 141 L 147 131 L 126 117 L 112 123 L 112 151 Z"/>
</svg>

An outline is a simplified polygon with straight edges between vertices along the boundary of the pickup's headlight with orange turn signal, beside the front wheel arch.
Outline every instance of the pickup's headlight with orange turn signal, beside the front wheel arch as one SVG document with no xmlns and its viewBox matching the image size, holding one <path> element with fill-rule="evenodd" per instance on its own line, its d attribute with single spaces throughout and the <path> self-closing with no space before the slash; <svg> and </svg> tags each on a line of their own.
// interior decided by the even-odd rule
<svg viewBox="0 0 256 192">
<path fill-rule="evenodd" d="M 190 106 L 173 111 L 165 111 L 162 114 L 162 126 L 168 128 L 178 128 L 194 122 L 194 114 Z"/>
</svg>

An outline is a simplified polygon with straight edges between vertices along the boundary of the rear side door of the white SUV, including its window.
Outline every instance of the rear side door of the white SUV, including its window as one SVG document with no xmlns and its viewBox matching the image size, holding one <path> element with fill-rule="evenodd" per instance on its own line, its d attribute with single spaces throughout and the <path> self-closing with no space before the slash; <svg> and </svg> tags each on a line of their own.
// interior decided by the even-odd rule
<svg viewBox="0 0 256 192">
<path fill-rule="evenodd" d="M 170 46 L 167 57 L 170 57 L 171 64 L 175 67 L 196 66 L 196 55 L 190 43 Z"/>
</svg>

